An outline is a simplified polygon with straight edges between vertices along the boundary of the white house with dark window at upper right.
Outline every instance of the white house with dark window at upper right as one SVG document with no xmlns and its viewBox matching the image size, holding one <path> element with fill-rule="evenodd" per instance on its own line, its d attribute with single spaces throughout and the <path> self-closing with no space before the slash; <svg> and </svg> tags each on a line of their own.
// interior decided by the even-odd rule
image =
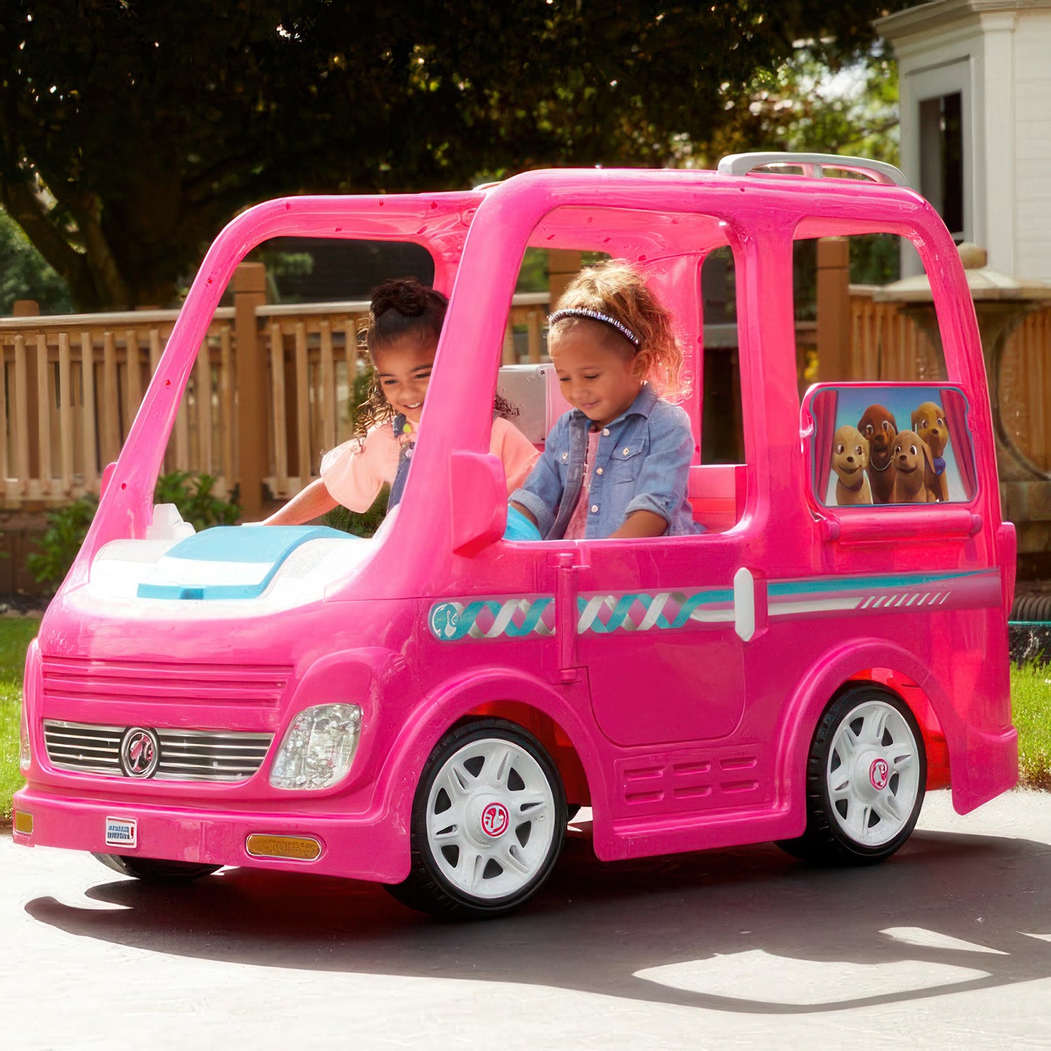
<svg viewBox="0 0 1051 1051">
<path fill-rule="evenodd" d="M 1051 281 L 1051 0 L 934 0 L 875 27 L 898 55 L 905 174 L 990 267 Z"/>
</svg>

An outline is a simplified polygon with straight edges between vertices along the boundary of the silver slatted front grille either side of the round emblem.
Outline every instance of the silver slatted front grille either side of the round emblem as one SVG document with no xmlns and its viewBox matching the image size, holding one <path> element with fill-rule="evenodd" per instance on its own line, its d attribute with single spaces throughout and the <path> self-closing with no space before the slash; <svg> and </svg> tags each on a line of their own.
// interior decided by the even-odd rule
<svg viewBox="0 0 1051 1051">
<path fill-rule="evenodd" d="M 44 720 L 51 764 L 63 770 L 121 778 L 119 753 L 126 726 Z M 154 729 L 160 751 L 154 781 L 247 781 L 263 764 L 273 734 Z"/>
</svg>

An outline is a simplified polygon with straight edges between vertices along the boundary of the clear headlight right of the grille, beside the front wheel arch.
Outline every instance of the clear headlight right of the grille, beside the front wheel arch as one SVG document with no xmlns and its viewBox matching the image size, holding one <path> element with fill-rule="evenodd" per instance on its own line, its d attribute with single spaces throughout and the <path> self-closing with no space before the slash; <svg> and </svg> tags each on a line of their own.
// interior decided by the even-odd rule
<svg viewBox="0 0 1051 1051">
<path fill-rule="evenodd" d="M 288 727 L 270 770 L 274 788 L 331 788 L 350 771 L 362 728 L 356 704 L 305 708 Z"/>
</svg>

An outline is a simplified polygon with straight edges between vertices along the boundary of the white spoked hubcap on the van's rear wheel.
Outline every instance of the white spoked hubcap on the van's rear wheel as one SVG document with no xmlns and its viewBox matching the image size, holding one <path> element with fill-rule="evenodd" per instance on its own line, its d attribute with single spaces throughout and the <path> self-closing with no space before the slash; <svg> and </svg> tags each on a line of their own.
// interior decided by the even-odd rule
<svg viewBox="0 0 1051 1051">
<path fill-rule="evenodd" d="M 889 843 L 920 791 L 920 749 L 909 724 L 883 701 L 859 704 L 836 731 L 825 776 L 840 828 L 863 846 Z"/>
</svg>

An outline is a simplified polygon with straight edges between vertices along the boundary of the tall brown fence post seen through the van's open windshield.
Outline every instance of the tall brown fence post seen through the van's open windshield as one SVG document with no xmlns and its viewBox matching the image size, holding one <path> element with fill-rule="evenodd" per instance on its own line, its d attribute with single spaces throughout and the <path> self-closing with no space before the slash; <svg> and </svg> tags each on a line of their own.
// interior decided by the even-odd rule
<svg viewBox="0 0 1051 1051">
<path fill-rule="evenodd" d="M 242 263 L 233 271 L 233 337 L 236 344 L 238 466 L 241 513 L 259 518 L 266 477 L 267 398 L 265 343 L 259 337 L 255 310 L 266 303 L 266 267 Z"/>
</svg>

